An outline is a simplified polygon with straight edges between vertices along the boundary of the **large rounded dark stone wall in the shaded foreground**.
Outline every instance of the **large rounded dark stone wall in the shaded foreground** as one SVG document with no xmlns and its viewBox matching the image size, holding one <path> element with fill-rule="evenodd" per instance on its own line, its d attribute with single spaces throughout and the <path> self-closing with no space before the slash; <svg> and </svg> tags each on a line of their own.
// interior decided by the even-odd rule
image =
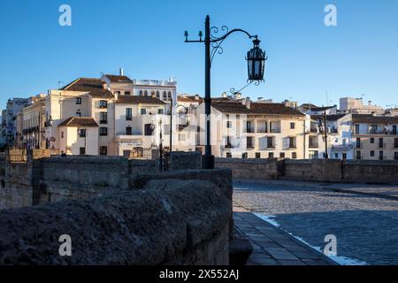
<svg viewBox="0 0 398 283">
<path fill-rule="evenodd" d="M 0 264 L 228 264 L 230 212 L 231 200 L 220 187 L 175 179 L 4 210 Z M 71 237 L 72 256 L 58 253 L 64 234 Z"/>
</svg>

